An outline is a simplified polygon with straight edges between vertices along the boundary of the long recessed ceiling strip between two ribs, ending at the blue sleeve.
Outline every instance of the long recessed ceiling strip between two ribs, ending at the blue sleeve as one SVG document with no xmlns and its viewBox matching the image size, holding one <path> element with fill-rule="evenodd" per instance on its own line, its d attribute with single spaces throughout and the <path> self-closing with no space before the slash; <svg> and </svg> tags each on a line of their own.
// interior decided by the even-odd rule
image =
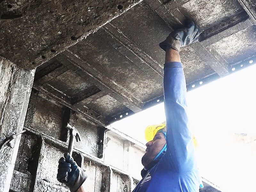
<svg viewBox="0 0 256 192">
<path fill-rule="evenodd" d="M 154 94 L 157 97 L 157 93 L 162 91 L 161 81 L 156 82 L 154 78 L 146 76 L 144 71 L 134 66 L 100 36 L 90 36 L 88 42 L 79 42 L 69 50 L 137 100 L 147 101 Z"/>
</svg>

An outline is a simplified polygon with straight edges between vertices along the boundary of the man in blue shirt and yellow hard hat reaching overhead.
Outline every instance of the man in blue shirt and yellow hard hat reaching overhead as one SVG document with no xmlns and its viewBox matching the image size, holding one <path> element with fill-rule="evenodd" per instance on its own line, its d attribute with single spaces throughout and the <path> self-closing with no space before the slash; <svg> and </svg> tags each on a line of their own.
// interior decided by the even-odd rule
<svg viewBox="0 0 256 192">
<path fill-rule="evenodd" d="M 194 22 L 173 31 L 159 44 L 166 52 L 164 64 L 164 108 L 166 126 L 151 135 L 142 157 L 142 180 L 133 192 L 198 192 L 199 173 L 195 163 L 192 135 L 188 130 L 186 81 L 180 61 L 180 47 L 198 41 Z M 83 192 L 86 174 L 69 154 L 60 158 L 57 179 L 71 192 Z"/>
</svg>

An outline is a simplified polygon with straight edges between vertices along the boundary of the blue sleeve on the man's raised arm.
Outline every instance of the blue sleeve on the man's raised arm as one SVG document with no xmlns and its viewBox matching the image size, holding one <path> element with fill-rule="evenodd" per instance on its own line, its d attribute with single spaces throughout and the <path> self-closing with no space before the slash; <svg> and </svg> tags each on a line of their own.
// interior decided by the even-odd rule
<svg viewBox="0 0 256 192">
<path fill-rule="evenodd" d="M 166 116 L 166 163 L 178 172 L 195 169 L 192 135 L 188 129 L 186 80 L 182 64 L 164 64 L 164 109 Z"/>
</svg>

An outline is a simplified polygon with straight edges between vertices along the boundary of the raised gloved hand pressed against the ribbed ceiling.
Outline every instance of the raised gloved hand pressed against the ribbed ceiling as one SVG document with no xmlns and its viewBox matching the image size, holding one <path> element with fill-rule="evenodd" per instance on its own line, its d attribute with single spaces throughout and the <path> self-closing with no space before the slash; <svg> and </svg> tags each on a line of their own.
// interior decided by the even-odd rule
<svg viewBox="0 0 256 192">
<path fill-rule="evenodd" d="M 159 44 L 159 46 L 166 51 L 167 47 L 172 47 L 173 49 L 180 52 L 180 47 L 184 47 L 191 43 L 198 41 L 200 31 L 193 21 L 191 21 L 187 27 L 180 28 L 172 33 Z"/>
</svg>

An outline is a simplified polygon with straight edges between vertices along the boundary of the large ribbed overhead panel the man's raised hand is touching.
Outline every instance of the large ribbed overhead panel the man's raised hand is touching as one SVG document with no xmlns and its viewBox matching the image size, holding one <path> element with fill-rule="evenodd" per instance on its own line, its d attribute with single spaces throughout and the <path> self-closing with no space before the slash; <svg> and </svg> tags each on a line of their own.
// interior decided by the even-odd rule
<svg viewBox="0 0 256 192">
<path fill-rule="evenodd" d="M 237 0 L 145 0 L 38 67 L 34 88 L 106 126 L 163 101 L 165 53 L 158 44 L 187 18 L 202 32 L 180 50 L 188 90 L 254 57 L 256 20 L 249 11 Z"/>
</svg>

